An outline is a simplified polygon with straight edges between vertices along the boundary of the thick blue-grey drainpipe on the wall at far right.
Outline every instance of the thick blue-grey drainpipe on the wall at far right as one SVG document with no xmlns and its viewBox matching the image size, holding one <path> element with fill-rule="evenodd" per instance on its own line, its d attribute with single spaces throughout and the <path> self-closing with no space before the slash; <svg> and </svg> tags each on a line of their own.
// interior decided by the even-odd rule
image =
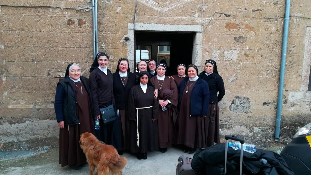
<svg viewBox="0 0 311 175">
<path fill-rule="evenodd" d="M 275 141 L 279 141 L 279 138 L 280 138 L 280 127 L 281 127 L 281 114 L 282 114 L 282 103 L 283 103 L 283 88 L 284 88 L 284 76 L 285 76 L 285 63 L 286 63 L 289 20 L 290 20 L 290 0 L 286 0 L 284 28 L 283 28 L 281 70 L 280 70 L 280 81 L 279 81 L 279 94 L 278 94 L 278 98 L 277 98 L 276 126 L 275 126 L 275 136 L 274 136 Z"/>
</svg>

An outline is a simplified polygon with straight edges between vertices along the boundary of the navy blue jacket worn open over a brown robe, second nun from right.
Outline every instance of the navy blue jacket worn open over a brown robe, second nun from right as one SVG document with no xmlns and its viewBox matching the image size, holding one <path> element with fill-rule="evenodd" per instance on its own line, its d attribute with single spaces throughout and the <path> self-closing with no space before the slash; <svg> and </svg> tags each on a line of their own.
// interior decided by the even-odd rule
<svg viewBox="0 0 311 175">
<path fill-rule="evenodd" d="M 183 79 L 179 85 L 179 108 L 181 99 L 183 97 L 183 91 L 186 87 L 189 77 Z M 190 97 L 190 117 L 191 116 L 203 116 L 208 114 L 208 105 L 210 102 L 210 90 L 206 81 L 200 77 L 195 83 Z"/>
</svg>

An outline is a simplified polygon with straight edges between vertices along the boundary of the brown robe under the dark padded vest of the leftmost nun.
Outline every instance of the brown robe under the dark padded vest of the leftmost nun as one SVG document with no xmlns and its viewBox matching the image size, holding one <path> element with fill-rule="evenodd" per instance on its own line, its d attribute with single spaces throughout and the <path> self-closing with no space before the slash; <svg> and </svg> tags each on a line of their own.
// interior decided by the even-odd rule
<svg viewBox="0 0 311 175">
<path fill-rule="evenodd" d="M 82 165 L 86 164 L 86 157 L 83 153 L 79 140 L 80 135 L 84 132 L 94 133 L 94 121 L 91 114 L 91 103 L 82 83 L 82 92 L 80 82 L 72 82 L 73 88 L 76 90 L 77 115 L 80 124 L 64 125 L 59 128 L 59 164 L 66 165 Z"/>
</svg>

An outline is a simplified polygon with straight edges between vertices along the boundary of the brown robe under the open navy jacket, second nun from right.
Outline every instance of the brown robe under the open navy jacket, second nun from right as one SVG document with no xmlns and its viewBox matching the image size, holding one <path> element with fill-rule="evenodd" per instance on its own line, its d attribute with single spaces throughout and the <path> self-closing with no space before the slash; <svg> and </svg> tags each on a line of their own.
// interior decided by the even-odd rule
<svg viewBox="0 0 311 175">
<path fill-rule="evenodd" d="M 188 84 L 189 83 L 189 84 Z M 190 99 L 191 92 L 197 80 L 192 84 L 191 81 L 186 83 L 183 97 L 180 104 L 178 115 L 178 138 L 177 144 L 183 144 L 190 148 L 206 148 L 208 137 L 208 118 L 203 116 L 190 117 Z M 188 92 L 187 84 L 189 85 Z M 192 84 L 192 85 L 191 85 Z"/>
</svg>

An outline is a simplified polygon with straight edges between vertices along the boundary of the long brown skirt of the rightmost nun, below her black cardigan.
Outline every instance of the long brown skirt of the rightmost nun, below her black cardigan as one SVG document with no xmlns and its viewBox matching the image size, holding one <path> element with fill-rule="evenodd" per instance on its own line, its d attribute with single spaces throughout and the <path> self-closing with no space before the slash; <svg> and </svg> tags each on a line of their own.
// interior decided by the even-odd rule
<svg viewBox="0 0 311 175">
<path fill-rule="evenodd" d="M 207 146 L 219 143 L 219 107 L 218 103 L 209 104 Z"/>
</svg>

